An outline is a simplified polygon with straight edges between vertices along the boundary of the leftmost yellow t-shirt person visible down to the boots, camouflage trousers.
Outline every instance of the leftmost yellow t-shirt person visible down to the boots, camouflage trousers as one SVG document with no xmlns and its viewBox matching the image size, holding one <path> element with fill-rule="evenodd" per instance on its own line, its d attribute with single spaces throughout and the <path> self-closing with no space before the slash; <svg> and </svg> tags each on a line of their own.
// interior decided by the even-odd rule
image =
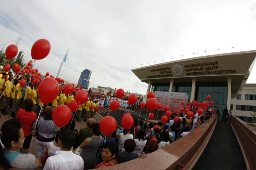
<svg viewBox="0 0 256 170">
<path fill-rule="evenodd" d="M 3 107 L 2 107 L 2 114 L 5 115 L 5 114 L 8 114 L 6 111 L 5 111 L 5 108 L 7 106 L 7 103 L 9 103 L 9 100 L 10 100 L 10 97 L 11 97 L 11 92 L 12 92 L 12 79 L 13 79 L 13 76 L 9 76 L 9 80 L 7 80 L 5 83 L 4 83 L 4 97 L 3 97 Z"/>
</svg>

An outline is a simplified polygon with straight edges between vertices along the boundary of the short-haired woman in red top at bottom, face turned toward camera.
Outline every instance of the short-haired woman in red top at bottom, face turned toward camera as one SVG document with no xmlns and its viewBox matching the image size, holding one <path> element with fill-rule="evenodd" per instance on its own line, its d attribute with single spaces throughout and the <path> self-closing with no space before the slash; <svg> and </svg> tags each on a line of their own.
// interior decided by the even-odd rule
<svg viewBox="0 0 256 170">
<path fill-rule="evenodd" d="M 116 143 L 108 142 L 104 144 L 103 149 L 101 151 L 101 157 L 104 161 L 98 164 L 95 167 L 95 169 L 118 164 L 116 160 L 117 154 L 118 154 L 118 146 L 116 145 Z"/>
</svg>

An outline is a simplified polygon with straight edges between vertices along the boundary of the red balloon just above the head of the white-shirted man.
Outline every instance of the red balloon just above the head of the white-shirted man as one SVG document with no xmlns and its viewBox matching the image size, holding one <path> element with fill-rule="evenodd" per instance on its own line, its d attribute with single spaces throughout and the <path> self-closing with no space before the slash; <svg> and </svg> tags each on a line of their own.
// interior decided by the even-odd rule
<svg viewBox="0 0 256 170">
<path fill-rule="evenodd" d="M 59 105 L 52 112 L 52 120 L 58 127 L 65 126 L 71 119 L 71 111 L 66 105 Z"/>
</svg>

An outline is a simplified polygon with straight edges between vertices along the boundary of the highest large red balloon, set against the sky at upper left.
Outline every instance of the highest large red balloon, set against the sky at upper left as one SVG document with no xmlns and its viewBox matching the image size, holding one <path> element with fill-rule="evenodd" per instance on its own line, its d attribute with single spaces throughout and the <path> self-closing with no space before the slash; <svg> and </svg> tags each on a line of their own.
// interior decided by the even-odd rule
<svg viewBox="0 0 256 170">
<path fill-rule="evenodd" d="M 31 48 L 31 56 L 35 60 L 41 60 L 45 58 L 51 50 L 51 44 L 48 40 L 37 40 Z"/>
</svg>

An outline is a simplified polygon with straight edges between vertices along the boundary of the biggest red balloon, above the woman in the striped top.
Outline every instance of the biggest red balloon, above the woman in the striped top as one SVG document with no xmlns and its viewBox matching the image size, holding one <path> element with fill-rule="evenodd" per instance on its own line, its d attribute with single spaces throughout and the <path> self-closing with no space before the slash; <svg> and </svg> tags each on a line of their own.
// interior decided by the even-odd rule
<svg viewBox="0 0 256 170">
<path fill-rule="evenodd" d="M 59 84 L 53 78 L 44 78 L 38 85 L 38 97 L 42 103 L 51 103 L 59 94 Z"/>
</svg>

